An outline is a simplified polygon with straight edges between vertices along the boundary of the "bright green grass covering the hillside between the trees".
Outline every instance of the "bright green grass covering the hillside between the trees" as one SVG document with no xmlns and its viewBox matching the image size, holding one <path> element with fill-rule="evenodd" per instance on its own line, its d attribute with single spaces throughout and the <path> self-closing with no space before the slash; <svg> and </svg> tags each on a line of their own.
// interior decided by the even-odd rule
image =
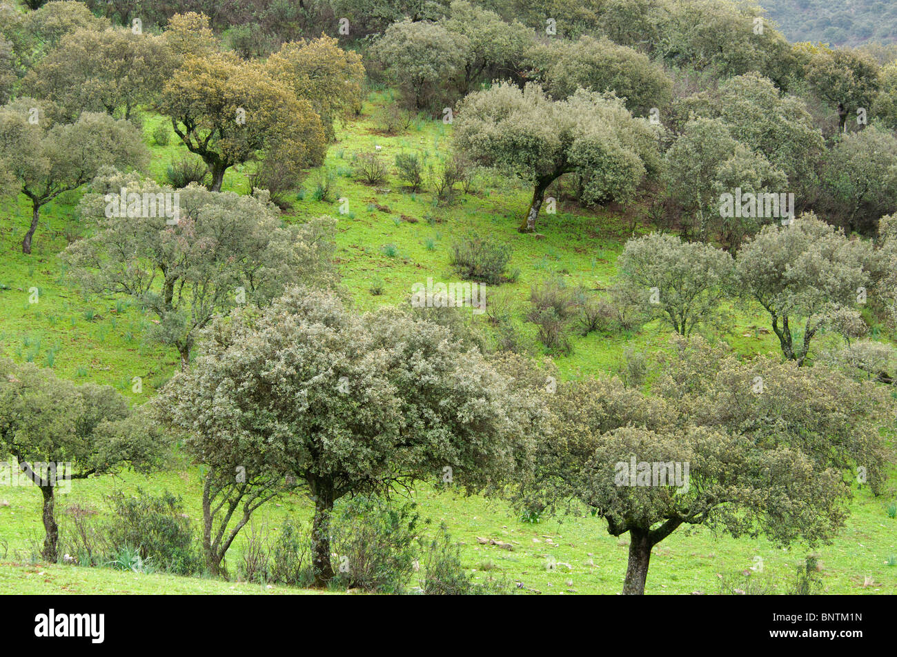
<svg viewBox="0 0 897 657">
<path fill-rule="evenodd" d="M 449 131 L 440 121 L 421 122 L 406 134 L 378 134 L 370 116 L 383 98 L 383 94 L 371 95 L 361 117 L 338 131 L 339 141 L 327 155 L 325 166 L 335 172 L 334 199 L 348 199 L 350 212 L 339 214 L 336 201 L 313 200 L 313 176 L 309 175 L 305 192 L 293 199 L 292 212 L 284 217 L 288 221 L 321 214 L 337 218 L 337 266 L 356 307 L 364 310 L 401 302 L 410 296 L 414 283 L 424 283 L 428 277 L 457 280 L 448 260 L 450 245 L 470 229 L 514 248 L 511 268 L 519 269 L 520 274 L 507 289 L 515 298 L 518 316 L 527 306 L 530 286 L 547 277 L 561 276 L 597 293 L 607 287 L 615 273 L 616 257 L 632 232 L 630 220 L 613 212 L 558 203 L 556 214 L 540 218 L 539 235 L 522 235 L 517 227 L 529 193 L 518 181 L 480 178 L 473 194 L 459 195 L 457 203 L 446 207 L 434 203 L 427 191 L 405 192 L 395 177 L 372 187 L 347 175 L 353 153 L 374 151 L 375 145 L 381 147 L 380 155 L 390 171 L 398 152 L 417 151 L 428 163 L 448 152 Z M 152 143 L 153 128 L 164 120 L 146 117 L 148 144 Z M 168 163 L 184 152 L 173 136 L 165 147 L 152 146 L 152 176 L 162 181 Z M 228 172 L 225 190 L 247 191 L 240 171 Z M 45 207 L 31 256 L 22 255 L 20 247 L 30 217 L 23 197 L 0 206 L 0 216 L 9 219 L 0 224 L 0 353 L 52 366 L 59 376 L 76 382 L 114 385 L 141 403 L 178 367 L 177 353 L 146 339 L 153 318 L 139 307 L 127 306 L 123 298 L 83 298 L 65 280 L 57 253 L 65 247 L 78 197 L 64 195 Z M 637 234 L 648 231 L 648 226 L 636 222 Z M 32 288 L 39 290 L 37 303 L 29 303 Z M 371 288 L 382 293 L 371 294 Z M 722 339 L 734 349 L 745 355 L 778 353 L 774 337 L 758 330 L 767 326 L 764 316 L 733 308 L 733 317 L 731 330 Z M 485 319 L 472 316 L 472 321 L 482 324 Z M 532 339 L 535 328 L 531 324 L 518 321 L 518 327 Z M 666 329 L 657 325 L 640 333 L 592 333 L 574 338 L 573 352 L 556 361 L 563 376 L 606 374 L 620 366 L 626 348 L 656 350 L 667 337 Z M 132 392 L 135 376 L 142 379 L 142 393 Z M 153 492 L 168 488 L 183 496 L 187 514 L 198 524 L 199 474 L 186 464 L 150 477 L 123 473 L 76 481 L 72 493 L 61 496 L 57 506 L 64 509 L 77 503 L 104 513 L 104 496 L 111 490 L 133 490 L 138 485 Z M 453 538 L 463 543 L 464 565 L 475 577 L 498 573 L 522 583 L 526 591 L 546 593 L 616 593 L 622 588 L 628 540 L 609 536 L 605 523 L 590 516 L 524 523 L 500 502 L 437 493 L 427 486 L 418 488 L 415 499 L 422 518 L 430 521 L 425 531 L 447 523 Z M 887 565 L 897 554 L 897 520 L 886 512 L 892 500 L 893 487 L 886 498 L 872 497 L 866 490 L 857 492 L 846 529 L 831 546 L 816 550 L 823 564 L 826 592 L 897 592 L 897 567 Z M 64 511 L 61 514 L 65 517 Z M 286 514 L 308 521 L 308 501 L 292 497 L 268 504 L 260 510 L 257 523 L 276 531 Z M 0 488 L 0 592 L 283 592 L 254 584 L 33 564 L 31 546 L 42 535 L 38 492 Z M 481 544 L 477 537 L 504 540 L 514 549 Z M 242 549 L 242 540 L 231 548 L 231 572 Z M 766 540 L 733 540 L 714 536 L 704 528 L 680 529 L 655 549 L 647 592 L 716 592 L 720 574 L 744 571 L 757 557 L 763 560 L 765 575 L 784 586 L 808 552 L 799 544 L 782 550 Z M 560 566 L 549 570 L 550 559 Z"/>
</svg>

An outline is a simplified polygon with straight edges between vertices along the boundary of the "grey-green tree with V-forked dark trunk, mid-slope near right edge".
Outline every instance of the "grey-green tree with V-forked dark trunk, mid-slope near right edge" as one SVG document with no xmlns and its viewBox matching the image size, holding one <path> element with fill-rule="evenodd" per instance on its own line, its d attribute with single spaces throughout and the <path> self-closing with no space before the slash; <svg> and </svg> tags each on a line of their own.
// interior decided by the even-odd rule
<svg viewBox="0 0 897 657">
<path fill-rule="evenodd" d="M 871 281 L 871 245 L 805 213 L 764 227 L 736 256 L 743 298 L 769 313 L 785 358 L 802 365 L 814 335 L 840 307 L 858 305 Z"/>
</svg>

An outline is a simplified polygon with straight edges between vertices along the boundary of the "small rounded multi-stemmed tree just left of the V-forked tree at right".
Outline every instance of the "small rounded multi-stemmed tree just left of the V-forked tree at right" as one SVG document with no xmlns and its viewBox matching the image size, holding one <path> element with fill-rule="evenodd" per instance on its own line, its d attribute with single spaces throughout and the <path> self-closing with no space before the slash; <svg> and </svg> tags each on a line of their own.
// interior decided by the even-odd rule
<svg viewBox="0 0 897 657">
<path fill-rule="evenodd" d="M 626 242 L 617 263 L 620 282 L 639 290 L 652 316 L 685 336 L 718 319 L 733 267 L 732 256 L 714 246 L 658 233 Z"/>
</svg>

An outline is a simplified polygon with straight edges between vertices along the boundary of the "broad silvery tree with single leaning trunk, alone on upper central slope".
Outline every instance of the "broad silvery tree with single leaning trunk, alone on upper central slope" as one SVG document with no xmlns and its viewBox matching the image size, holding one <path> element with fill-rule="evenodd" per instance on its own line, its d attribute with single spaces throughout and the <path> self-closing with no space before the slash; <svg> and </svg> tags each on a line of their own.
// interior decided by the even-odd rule
<svg viewBox="0 0 897 657">
<path fill-rule="evenodd" d="M 581 176 L 583 202 L 622 202 L 660 167 L 657 128 L 612 95 L 580 90 L 552 100 L 535 83 L 501 82 L 467 96 L 455 124 L 466 158 L 534 185 L 522 229 L 535 228 L 545 189 L 565 173 Z"/>
</svg>

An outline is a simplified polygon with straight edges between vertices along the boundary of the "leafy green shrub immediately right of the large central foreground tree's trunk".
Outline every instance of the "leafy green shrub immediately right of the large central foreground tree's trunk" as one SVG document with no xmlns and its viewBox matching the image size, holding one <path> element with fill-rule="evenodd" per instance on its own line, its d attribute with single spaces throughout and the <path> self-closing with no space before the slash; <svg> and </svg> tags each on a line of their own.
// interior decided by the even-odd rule
<svg viewBox="0 0 897 657">
<path fill-rule="evenodd" d="M 330 519 L 336 554 L 335 584 L 365 591 L 399 593 L 417 563 L 416 504 L 393 506 L 375 496 L 359 496 L 338 506 Z"/>
</svg>

